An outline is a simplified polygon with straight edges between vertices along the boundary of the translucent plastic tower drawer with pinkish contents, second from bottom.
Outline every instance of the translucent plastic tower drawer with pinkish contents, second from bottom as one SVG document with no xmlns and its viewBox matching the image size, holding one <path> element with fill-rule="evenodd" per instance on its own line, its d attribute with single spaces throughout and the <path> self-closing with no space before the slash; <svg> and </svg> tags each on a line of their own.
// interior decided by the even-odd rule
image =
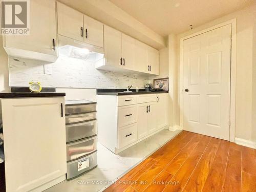
<svg viewBox="0 0 256 192">
<path fill-rule="evenodd" d="M 97 150 L 97 136 L 67 144 L 67 161 L 80 158 Z"/>
</svg>

